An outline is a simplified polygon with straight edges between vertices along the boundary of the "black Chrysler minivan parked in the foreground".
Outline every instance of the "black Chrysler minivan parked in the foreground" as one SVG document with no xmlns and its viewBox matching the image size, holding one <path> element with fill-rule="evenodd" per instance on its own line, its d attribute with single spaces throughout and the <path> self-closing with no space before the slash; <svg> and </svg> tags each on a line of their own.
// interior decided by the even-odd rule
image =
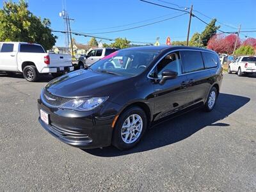
<svg viewBox="0 0 256 192">
<path fill-rule="evenodd" d="M 123 150 L 178 111 L 211 111 L 222 78 L 218 54 L 208 49 L 122 49 L 49 82 L 38 99 L 39 122 L 74 147 Z"/>
</svg>

